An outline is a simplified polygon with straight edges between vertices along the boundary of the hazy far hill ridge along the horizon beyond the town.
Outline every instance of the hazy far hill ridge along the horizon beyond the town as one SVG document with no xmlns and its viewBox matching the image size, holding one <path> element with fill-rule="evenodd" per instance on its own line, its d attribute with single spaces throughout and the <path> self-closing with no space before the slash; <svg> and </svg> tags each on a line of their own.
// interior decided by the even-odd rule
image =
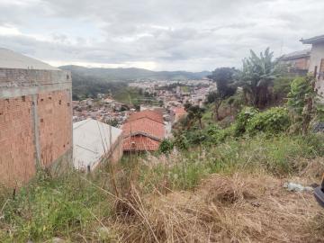
<svg viewBox="0 0 324 243">
<path fill-rule="evenodd" d="M 186 72 L 186 71 L 151 71 L 143 68 L 99 68 L 99 67 L 80 67 L 80 66 L 61 66 L 64 70 L 70 70 L 72 76 L 92 76 L 105 81 L 130 81 L 138 79 L 151 80 L 186 80 L 201 79 L 208 76 L 211 72 Z"/>
</svg>

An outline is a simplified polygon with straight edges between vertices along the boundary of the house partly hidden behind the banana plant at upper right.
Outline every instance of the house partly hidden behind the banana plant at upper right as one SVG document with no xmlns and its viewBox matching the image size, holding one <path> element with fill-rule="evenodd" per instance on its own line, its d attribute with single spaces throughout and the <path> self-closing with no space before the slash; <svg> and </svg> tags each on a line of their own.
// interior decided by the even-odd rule
<svg viewBox="0 0 324 243">
<path fill-rule="evenodd" d="M 310 67 L 311 49 L 285 54 L 280 61 L 288 66 L 290 73 L 306 75 Z"/>
</svg>

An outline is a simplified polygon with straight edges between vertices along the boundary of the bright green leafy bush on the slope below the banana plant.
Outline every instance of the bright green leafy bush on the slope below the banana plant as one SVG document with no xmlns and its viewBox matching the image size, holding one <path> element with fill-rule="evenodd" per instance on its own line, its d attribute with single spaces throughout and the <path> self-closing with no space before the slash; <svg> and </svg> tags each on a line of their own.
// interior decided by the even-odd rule
<svg viewBox="0 0 324 243">
<path fill-rule="evenodd" d="M 247 132 L 256 134 L 258 131 L 276 134 L 290 126 L 288 111 L 283 107 L 274 107 L 266 112 L 259 112 L 247 121 Z"/>
</svg>

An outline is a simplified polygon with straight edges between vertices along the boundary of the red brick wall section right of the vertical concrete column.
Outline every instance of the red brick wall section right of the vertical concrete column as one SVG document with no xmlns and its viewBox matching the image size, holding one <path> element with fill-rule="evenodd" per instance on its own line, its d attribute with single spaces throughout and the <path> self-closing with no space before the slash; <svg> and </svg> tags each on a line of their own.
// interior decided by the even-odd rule
<svg viewBox="0 0 324 243">
<path fill-rule="evenodd" d="M 50 166 L 72 146 L 72 112 L 69 90 L 38 94 L 40 163 Z"/>
</svg>

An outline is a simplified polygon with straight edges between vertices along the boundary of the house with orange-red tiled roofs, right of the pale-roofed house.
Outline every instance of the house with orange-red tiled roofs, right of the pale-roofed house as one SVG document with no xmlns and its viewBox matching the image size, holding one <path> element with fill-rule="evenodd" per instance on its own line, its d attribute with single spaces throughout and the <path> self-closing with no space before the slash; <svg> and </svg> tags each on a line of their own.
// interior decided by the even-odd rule
<svg viewBox="0 0 324 243">
<path fill-rule="evenodd" d="M 166 137 L 166 128 L 161 113 L 145 110 L 130 114 L 122 126 L 123 151 L 156 151 Z"/>
</svg>

